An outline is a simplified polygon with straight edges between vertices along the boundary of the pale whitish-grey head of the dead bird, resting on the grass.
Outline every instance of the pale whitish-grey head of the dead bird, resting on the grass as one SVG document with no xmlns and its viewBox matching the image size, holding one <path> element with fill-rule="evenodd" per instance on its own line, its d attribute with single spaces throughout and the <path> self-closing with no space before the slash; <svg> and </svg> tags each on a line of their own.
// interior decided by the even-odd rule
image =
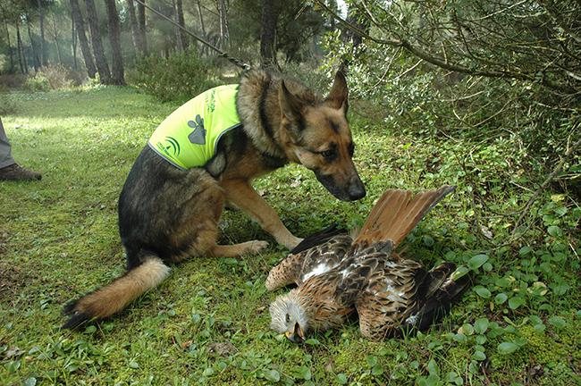
<svg viewBox="0 0 581 386">
<path fill-rule="evenodd" d="M 295 343 L 305 340 L 308 330 L 308 316 L 300 301 L 299 292 L 291 290 L 281 295 L 270 305 L 270 327 Z"/>
</svg>

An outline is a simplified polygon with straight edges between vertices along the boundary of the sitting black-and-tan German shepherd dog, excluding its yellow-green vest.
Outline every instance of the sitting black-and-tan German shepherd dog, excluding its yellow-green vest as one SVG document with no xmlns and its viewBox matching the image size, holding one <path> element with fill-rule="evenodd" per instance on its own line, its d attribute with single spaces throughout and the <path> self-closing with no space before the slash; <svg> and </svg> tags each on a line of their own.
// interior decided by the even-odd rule
<svg viewBox="0 0 581 386">
<path fill-rule="evenodd" d="M 193 256 L 240 256 L 265 248 L 265 241 L 216 245 L 223 206 L 240 208 L 286 248 L 301 239 L 282 224 L 251 181 L 290 162 L 344 201 L 365 197 L 352 161 L 355 146 L 346 119 L 348 88 L 337 72 L 326 98 L 294 80 L 268 71 L 243 75 L 236 96 L 241 128 L 219 139 L 204 167 L 181 170 L 151 147 L 131 168 L 119 197 L 119 232 L 127 272 L 109 285 L 65 306 L 74 328 L 121 311 L 153 289 L 169 264 Z"/>
</svg>

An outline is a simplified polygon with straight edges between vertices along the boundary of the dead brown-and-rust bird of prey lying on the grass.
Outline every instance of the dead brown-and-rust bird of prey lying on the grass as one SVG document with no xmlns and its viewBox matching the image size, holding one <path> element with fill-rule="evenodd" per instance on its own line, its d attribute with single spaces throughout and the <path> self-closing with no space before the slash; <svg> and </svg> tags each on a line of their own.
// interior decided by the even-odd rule
<svg viewBox="0 0 581 386">
<path fill-rule="evenodd" d="M 335 231 L 307 238 L 306 249 L 294 250 L 268 276 L 270 290 L 299 285 L 271 304 L 271 327 L 301 341 L 308 331 L 337 327 L 357 311 L 361 332 L 373 340 L 427 328 L 449 309 L 467 280 L 452 279 L 454 264 L 428 272 L 393 249 L 453 189 L 443 186 L 413 197 L 407 190 L 389 189 L 356 238 Z"/>
</svg>

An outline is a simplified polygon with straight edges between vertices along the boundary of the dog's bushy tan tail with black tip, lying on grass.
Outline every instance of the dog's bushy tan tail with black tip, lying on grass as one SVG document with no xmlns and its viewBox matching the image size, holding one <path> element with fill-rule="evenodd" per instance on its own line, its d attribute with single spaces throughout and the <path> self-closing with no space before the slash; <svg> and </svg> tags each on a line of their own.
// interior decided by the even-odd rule
<svg viewBox="0 0 581 386">
<path fill-rule="evenodd" d="M 111 284 L 64 306 L 69 320 L 63 328 L 75 328 L 89 320 L 114 315 L 139 295 L 155 288 L 169 273 L 170 268 L 159 257 L 147 256 Z"/>
</svg>

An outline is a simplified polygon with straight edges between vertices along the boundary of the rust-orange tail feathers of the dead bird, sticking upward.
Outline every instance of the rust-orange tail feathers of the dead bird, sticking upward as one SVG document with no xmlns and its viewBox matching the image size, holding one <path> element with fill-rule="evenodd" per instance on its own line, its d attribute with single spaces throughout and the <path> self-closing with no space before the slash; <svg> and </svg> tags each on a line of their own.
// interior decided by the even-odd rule
<svg viewBox="0 0 581 386">
<path fill-rule="evenodd" d="M 386 240 L 392 240 L 397 247 L 417 222 L 454 189 L 444 185 L 440 189 L 417 193 L 414 197 L 408 190 L 386 190 L 353 241 L 354 248 L 366 248 Z"/>
</svg>

